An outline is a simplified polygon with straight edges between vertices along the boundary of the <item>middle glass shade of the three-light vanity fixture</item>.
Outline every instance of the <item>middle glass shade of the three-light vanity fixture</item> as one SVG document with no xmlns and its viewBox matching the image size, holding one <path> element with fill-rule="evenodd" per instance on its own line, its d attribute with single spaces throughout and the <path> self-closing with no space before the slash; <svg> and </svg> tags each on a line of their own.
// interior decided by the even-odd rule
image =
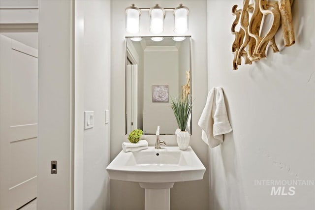
<svg viewBox="0 0 315 210">
<path fill-rule="evenodd" d="M 165 17 L 165 10 L 156 4 L 150 9 L 150 31 L 152 33 L 161 33 L 164 30 L 163 22 Z"/>
</svg>

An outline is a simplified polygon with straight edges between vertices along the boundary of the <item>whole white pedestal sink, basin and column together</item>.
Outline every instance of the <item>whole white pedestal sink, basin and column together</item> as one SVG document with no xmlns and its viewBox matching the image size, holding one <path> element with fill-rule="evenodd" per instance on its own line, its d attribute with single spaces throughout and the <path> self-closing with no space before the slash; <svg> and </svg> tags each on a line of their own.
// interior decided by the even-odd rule
<svg viewBox="0 0 315 210">
<path fill-rule="evenodd" d="M 106 169 L 110 179 L 139 182 L 145 188 L 145 210 L 169 210 L 174 182 L 202 180 L 206 171 L 191 147 L 121 151 Z"/>
</svg>

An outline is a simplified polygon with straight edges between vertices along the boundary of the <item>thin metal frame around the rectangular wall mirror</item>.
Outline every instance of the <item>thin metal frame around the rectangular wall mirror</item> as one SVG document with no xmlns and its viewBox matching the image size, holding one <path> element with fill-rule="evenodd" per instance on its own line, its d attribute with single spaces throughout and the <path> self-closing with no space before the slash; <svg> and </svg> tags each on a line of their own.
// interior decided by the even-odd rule
<svg viewBox="0 0 315 210">
<path fill-rule="evenodd" d="M 175 35 L 175 36 L 161 36 L 161 37 L 176 37 L 176 36 L 181 36 L 181 35 Z M 190 104 L 192 105 L 192 77 L 191 77 L 191 47 L 192 47 L 192 38 L 191 38 L 191 35 L 182 35 L 182 36 L 185 36 L 186 38 L 189 38 L 189 69 L 190 69 L 190 72 L 189 72 L 189 76 L 190 76 Z M 125 74 L 124 74 L 124 78 L 125 78 L 125 133 L 126 135 L 129 135 L 127 133 L 127 85 L 126 85 L 126 71 L 127 71 L 127 55 L 128 55 L 128 52 L 127 52 L 127 38 L 132 38 L 132 37 L 135 37 L 135 36 L 125 36 Z M 154 37 L 154 36 L 136 36 L 136 37 L 141 37 L 141 38 L 151 38 L 151 37 Z M 191 136 L 192 135 L 192 108 L 191 107 L 191 114 L 190 114 L 190 132 L 189 132 L 189 135 Z M 143 133 L 143 135 L 156 135 L 155 133 Z M 168 136 L 175 136 L 176 134 L 163 134 L 163 133 L 160 133 L 160 135 L 168 135 Z"/>
</svg>

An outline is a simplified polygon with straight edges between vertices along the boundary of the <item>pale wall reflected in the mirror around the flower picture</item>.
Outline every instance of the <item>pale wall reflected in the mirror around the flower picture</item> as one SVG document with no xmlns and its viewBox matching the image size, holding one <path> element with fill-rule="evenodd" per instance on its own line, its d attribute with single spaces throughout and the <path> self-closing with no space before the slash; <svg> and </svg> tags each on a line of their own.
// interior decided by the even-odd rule
<svg viewBox="0 0 315 210">
<path fill-rule="evenodd" d="M 160 125 L 161 133 L 175 133 L 178 125 L 170 103 L 171 97 L 178 94 L 178 50 L 175 46 L 165 47 L 165 50 L 152 46 L 146 47 L 143 55 L 143 130 L 154 134 Z M 168 86 L 168 102 L 152 102 L 153 85 Z"/>
</svg>

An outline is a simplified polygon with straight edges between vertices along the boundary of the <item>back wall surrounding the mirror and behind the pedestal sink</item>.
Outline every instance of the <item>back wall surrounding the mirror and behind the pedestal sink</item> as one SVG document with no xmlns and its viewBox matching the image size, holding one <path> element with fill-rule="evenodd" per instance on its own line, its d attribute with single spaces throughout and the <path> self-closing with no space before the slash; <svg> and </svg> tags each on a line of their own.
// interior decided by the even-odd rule
<svg viewBox="0 0 315 210">
<path fill-rule="evenodd" d="M 114 0 L 111 2 L 111 160 L 122 150 L 125 135 L 125 9 L 135 3 L 138 7 L 152 7 L 153 0 Z M 192 37 L 192 97 L 195 99 L 192 110 L 192 135 L 190 145 L 203 162 L 207 171 L 203 180 L 178 182 L 171 189 L 171 209 L 208 210 L 208 149 L 202 142 L 201 130 L 197 126 L 207 95 L 207 2 L 205 0 L 161 0 L 163 7 L 176 7 L 184 3 L 189 7 L 189 32 Z M 141 16 L 141 32 L 138 35 L 152 36 L 149 32 L 148 11 Z M 166 11 L 165 27 L 162 35 L 174 35 L 172 11 Z M 161 129 L 163 126 L 161 126 Z M 155 136 L 145 136 L 149 144 L 155 144 Z M 176 145 L 176 136 L 163 136 L 168 145 Z M 124 202 L 122 202 L 124 199 Z M 144 189 L 138 183 L 118 180 L 110 181 L 111 210 L 144 209 Z"/>
</svg>

